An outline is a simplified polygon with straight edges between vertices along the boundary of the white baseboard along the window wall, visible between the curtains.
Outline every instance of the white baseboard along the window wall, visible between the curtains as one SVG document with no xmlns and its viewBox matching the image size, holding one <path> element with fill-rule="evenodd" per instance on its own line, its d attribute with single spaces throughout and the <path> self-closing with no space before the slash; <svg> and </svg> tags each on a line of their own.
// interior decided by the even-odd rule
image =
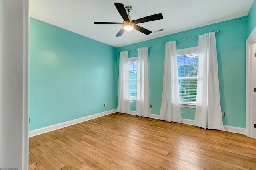
<svg viewBox="0 0 256 170">
<path fill-rule="evenodd" d="M 136 115 L 136 111 L 130 111 L 130 114 L 131 115 Z M 151 114 L 151 118 L 160 119 L 159 115 L 156 115 L 156 114 Z M 194 125 L 194 120 L 183 119 L 183 122 L 181 122 L 181 123 L 184 123 L 184 124 L 187 124 L 187 125 Z M 234 126 L 228 126 L 228 125 L 224 125 L 224 129 L 218 129 L 218 130 L 232 132 L 232 133 L 239 133 L 239 134 L 242 134 L 242 135 L 245 135 L 245 133 L 246 133 L 246 128 L 234 127 Z"/>
</svg>

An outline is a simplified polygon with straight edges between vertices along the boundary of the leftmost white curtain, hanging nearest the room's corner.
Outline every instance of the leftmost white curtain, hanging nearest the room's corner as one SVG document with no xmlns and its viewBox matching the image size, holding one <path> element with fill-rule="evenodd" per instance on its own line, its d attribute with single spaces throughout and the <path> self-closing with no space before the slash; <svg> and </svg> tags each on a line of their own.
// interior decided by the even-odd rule
<svg viewBox="0 0 256 170">
<path fill-rule="evenodd" d="M 128 51 L 120 52 L 117 112 L 130 113 Z"/>
</svg>

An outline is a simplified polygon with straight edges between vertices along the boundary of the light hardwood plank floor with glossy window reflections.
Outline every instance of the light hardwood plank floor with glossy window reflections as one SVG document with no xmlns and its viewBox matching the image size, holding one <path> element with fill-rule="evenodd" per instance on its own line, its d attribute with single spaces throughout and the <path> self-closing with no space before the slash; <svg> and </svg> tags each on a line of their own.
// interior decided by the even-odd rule
<svg viewBox="0 0 256 170">
<path fill-rule="evenodd" d="M 30 170 L 256 170 L 256 139 L 113 113 L 30 137 Z"/>
</svg>

